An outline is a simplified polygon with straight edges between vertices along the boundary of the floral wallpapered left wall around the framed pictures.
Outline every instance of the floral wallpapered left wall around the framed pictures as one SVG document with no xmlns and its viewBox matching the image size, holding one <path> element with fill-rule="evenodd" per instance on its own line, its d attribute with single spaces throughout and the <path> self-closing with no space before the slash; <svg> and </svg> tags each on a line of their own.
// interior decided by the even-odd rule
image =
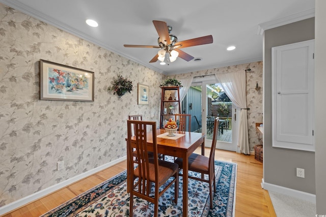
<svg viewBox="0 0 326 217">
<path fill-rule="evenodd" d="M 39 100 L 39 59 L 94 72 L 94 102 Z M 117 74 L 133 84 L 121 99 L 106 91 Z M 159 121 L 163 76 L 0 4 L 0 207 L 124 157 L 128 115 Z"/>
</svg>

